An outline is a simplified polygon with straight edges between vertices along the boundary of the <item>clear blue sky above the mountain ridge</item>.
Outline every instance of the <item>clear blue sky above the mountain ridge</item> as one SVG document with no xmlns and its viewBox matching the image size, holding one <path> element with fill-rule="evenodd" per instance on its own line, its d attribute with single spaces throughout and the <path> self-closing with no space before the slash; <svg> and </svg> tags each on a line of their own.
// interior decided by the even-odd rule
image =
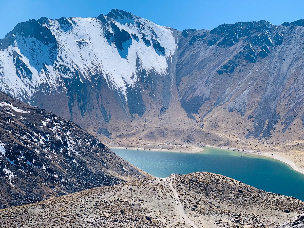
<svg viewBox="0 0 304 228">
<path fill-rule="evenodd" d="M 260 0 L 0 0 L 0 39 L 29 19 L 97 17 L 118 8 L 175 29 L 213 29 L 223 23 L 267 20 L 279 25 L 304 18 L 304 1 Z"/>
</svg>

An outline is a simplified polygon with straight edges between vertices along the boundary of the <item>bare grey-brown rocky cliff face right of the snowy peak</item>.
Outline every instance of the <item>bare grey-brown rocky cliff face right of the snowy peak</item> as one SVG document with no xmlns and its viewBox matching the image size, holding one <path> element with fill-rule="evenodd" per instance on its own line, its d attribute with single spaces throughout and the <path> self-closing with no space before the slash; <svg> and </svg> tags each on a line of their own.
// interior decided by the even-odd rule
<svg viewBox="0 0 304 228">
<path fill-rule="evenodd" d="M 221 106 L 253 119 L 246 137 L 269 137 L 275 128 L 285 132 L 303 115 L 303 32 L 302 26 L 267 21 L 183 31 L 178 59 L 186 57 L 177 65 L 182 107 L 207 114 Z"/>
</svg>

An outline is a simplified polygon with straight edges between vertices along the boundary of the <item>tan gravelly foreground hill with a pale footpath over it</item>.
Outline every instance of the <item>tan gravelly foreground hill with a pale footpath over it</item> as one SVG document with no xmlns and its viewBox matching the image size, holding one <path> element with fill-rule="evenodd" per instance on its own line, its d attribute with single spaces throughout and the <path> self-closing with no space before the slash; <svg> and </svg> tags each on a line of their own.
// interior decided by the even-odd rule
<svg viewBox="0 0 304 228">
<path fill-rule="evenodd" d="M 304 202 L 219 174 L 172 174 L 3 209 L 3 227 L 277 227 Z"/>
</svg>

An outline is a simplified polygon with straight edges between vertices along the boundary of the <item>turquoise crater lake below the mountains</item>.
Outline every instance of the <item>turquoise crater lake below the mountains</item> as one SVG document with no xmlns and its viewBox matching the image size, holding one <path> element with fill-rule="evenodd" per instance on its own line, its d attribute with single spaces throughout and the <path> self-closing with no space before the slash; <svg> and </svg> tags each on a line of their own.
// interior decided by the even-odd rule
<svg viewBox="0 0 304 228">
<path fill-rule="evenodd" d="M 130 149 L 112 151 L 155 177 L 207 171 L 304 201 L 304 174 L 272 158 L 216 148 L 204 148 L 199 153 Z"/>
</svg>

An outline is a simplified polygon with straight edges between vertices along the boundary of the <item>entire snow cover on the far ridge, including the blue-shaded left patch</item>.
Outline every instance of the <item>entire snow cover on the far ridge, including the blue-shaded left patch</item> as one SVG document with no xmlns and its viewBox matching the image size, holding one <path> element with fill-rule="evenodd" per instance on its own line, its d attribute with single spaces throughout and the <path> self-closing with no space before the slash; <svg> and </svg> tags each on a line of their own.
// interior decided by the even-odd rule
<svg viewBox="0 0 304 228">
<path fill-rule="evenodd" d="M 138 36 L 138 42 L 131 36 L 132 44 L 126 58 L 122 58 L 115 44 L 110 45 L 105 38 L 104 32 L 108 32 L 108 29 L 104 31 L 104 27 L 109 27 L 107 22 L 101 22 L 96 18 L 67 18 L 73 26 L 70 30 L 63 31 L 58 20 L 49 19 L 49 24 L 43 26 L 50 29 L 57 40 L 57 58 L 54 64 L 48 56 L 51 52 L 50 44 L 44 45 L 30 36 L 18 38 L 18 44 L 15 41 L 13 46 L 0 50 L 0 75 L 3 73 L 3 76 L 0 76 L 0 81 L 3 82 L 0 84 L 0 90 L 29 102 L 31 96 L 39 89 L 50 94 L 65 91 L 67 88 L 63 79 L 72 77 L 77 71 L 81 77 L 89 81 L 92 75 L 103 75 L 108 86 L 120 90 L 126 98 L 126 86 L 134 87 L 138 79 L 137 57 L 148 75 L 157 72 L 165 76 L 168 73 L 167 60 L 176 49 L 175 39 L 169 28 L 134 15 L 133 18 L 134 23 L 124 24 L 110 19 L 120 30 L 124 29 L 130 35 L 133 33 Z M 111 28 L 109 30 L 112 31 Z M 157 40 L 164 47 L 165 55 L 157 54 L 152 42 L 151 46 L 147 47 L 142 39 L 143 34 L 148 40 Z M 31 78 L 16 74 L 16 57 L 12 53 L 17 53 L 24 65 L 29 68 Z M 71 72 L 62 74 L 59 66 L 61 69 L 68 68 Z M 22 72 L 19 71 L 19 74 Z M 82 82 L 81 77 L 79 80 Z"/>
</svg>

